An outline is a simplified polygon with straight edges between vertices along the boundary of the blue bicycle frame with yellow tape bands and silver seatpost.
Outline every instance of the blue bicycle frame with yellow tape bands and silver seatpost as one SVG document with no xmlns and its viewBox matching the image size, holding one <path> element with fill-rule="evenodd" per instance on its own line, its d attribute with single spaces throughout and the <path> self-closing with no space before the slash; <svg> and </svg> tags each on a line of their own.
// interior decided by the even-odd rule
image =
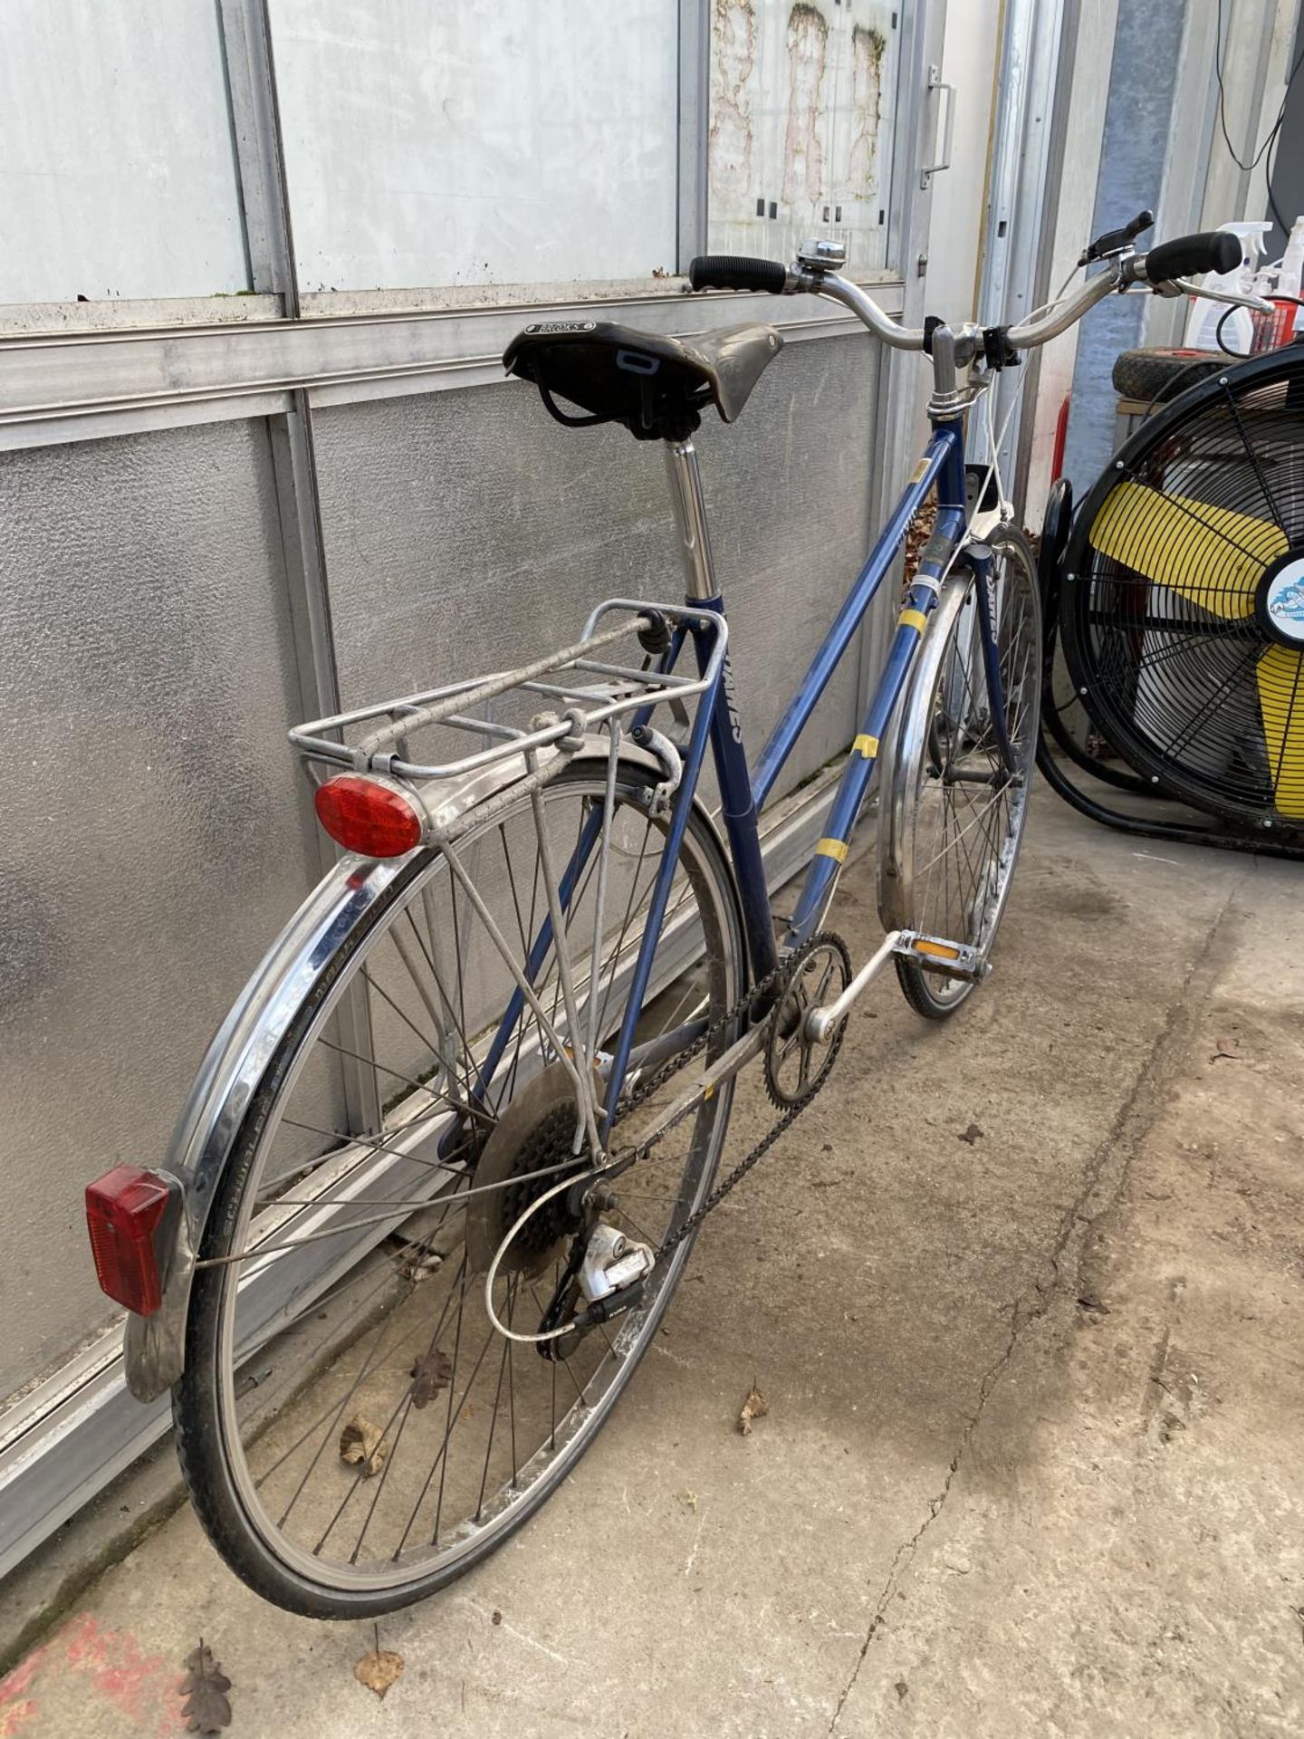
<svg viewBox="0 0 1304 1739">
<path fill-rule="evenodd" d="M 701 482 L 697 476 L 697 454 L 692 442 L 668 442 L 666 463 L 675 492 L 675 510 L 683 544 L 685 569 L 689 572 L 690 590 L 687 603 L 695 610 L 713 610 L 723 617 L 725 602 L 715 584 L 711 569 L 709 541 L 706 537 L 706 515 L 702 508 Z M 652 976 L 652 960 L 666 915 L 666 904 L 683 842 L 683 831 L 689 823 L 689 812 L 706 760 L 708 743 L 711 746 L 720 784 L 722 821 L 734 861 L 734 875 L 737 878 L 749 965 L 753 979 L 763 979 L 774 972 L 779 962 L 779 949 L 774 939 L 774 920 L 770 915 L 770 897 L 760 849 L 758 816 L 762 805 L 774 790 L 774 783 L 779 777 L 784 762 L 791 755 L 793 746 L 805 729 L 812 711 L 815 710 L 819 697 L 828 687 L 838 661 L 852 643 L 852 638 L 861 628 L 869 605 L 892 570 L 897 551 L 906 541 L 906 530 L 911 520 L 934 489 L 937 492 L 937 516 L 934 530 L 923 546 L 916 577 L 911 583 L 901 614 L 897 616 L 897 626 L 892 635 L 892 643 L 888 645 L 883 670 L 878 683 L 875 685 L 861 730 L 850 746 L 847 765 L 843 767 L 842 779 L 829 809 L 828 831 L 814 849 L 805 871 L 805 882 L 802 885 L 796 909 L 788 923 L 784 948 L 795 948 L 814 934 L 821 922 L 821 915 L 828 908 L 838 871 L 850 849 L 852 830 L 869 790 L 869 779 L 873 777 L 880 755 L 880 743 L 887 736 L 897 701 L 901 699 L 906 682 L 909 680 L 915 657 L 928 624 L 928 616 L 937 603 L 941 583 L 946 577 L 965 536 L 968 516 L 965 510 L 965 440 L 963 423 L 960 419 L 934 421 L 932 436 L 923 457 L 916 464 L 901 499 L 869 551 L 864 567 L 857 574 L 855 583 L 838 609 L 833 626 L 810 661 L 810 668 L 796 689 L 796 694 L 788 703 L 779 723 L 770 732 L 770 737 L 755 767 L 748 765 L 742 744 L 742 729 L 734 699 L 734 678 L 727 656 L 718 670 L 715 685 L 702 694 L 697 704 L 692 734 L 683 751 L 683 776 L 680 779 L 668 823 L 661 868 L 650 894 L 624 1019 L 612 1050 L 603 1108 L 605 1123 L 610 1123 L 621 1097 L 633 1049 L 635 1024 L 647 996 Z M 986 581 L 984 555 L 986 551 L 974 546 L 972 565 L 979 570 L 981 581 Z M 986 593 L 986 586 L 979 584 L 979 591 Z M 982 603 L 988 607 L 979 609 L 977 619 L 982 638 L 984 668 L 988 675 L 993 715 L 996 718 L 998 739 L 1001 743 L 1001 750 L 1005 751 L 1005 706 L 1000 692 L 995 624 L 986 595 Z M 694 630 L 680 626 L 675 630 L 669 649 L 662 654 L 661 670 L 669 671 L 675 668 L 687 638 L 694 640 L 699 671 L 706 671 L 711 652 L 709 630 L 702 630 L 701 626 Z M 645 715 L 640 715 L 640 722 L 645 722 Z M 562 876 L 562 909 L 567 909 L 570 894 L 575 889 L 584 864 L 600 836 L 600 821 L 602 816 L 595 810 L 595 816 L 589 817 L 589 824 L 575 843 L 575 850 L 572 852 L 565 875 Z M 527 976 L 530 979 L 539 972 L 548 955 L 551 934 L 551 923 L 546 920 L 530 949 L 527 963 Z M 483 1092 L 492 1080 L 497 1063 L 506 1050 L 508 1040 L 522 1017 L 523 1007 L 525 1000 L 522 993 L 516 991 L 502 1016 L 489 1056 L 480 1069 L 480 1092 Z"/>
</svg>

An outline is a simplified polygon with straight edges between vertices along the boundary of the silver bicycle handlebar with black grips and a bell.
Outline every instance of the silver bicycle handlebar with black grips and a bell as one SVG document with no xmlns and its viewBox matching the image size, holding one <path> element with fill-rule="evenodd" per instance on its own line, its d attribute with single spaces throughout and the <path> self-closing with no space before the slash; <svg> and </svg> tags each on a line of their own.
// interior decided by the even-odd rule
<svg viewBox="0 0 1304 1739">
<path fill-rule="evenodd" d="M 1149 212 L 1141 212 L 1127 226 L 1127 233 L 1135 235 L 1144 228 L 1142 219 L 1149 219 Z M 1118 231 L 1118 235 L 1123 237 L 1125 231 Z M 1113 240 L 1113 237 L 1108 240 Z M 1189 278 L 1193 273 L 1231 271 L 1240 257 L 1240 242 L 1226 230 L 1177 237 L 1172 242 L 1161 242 L 1148 254 L 1108 254 L 1102 271 L 1087 278 L 1071 296 L 1061 297 L 1050 308 L 1038 311 L 1021 325 L 1008 327 L 1005 339 L 1015 350 L 1033 350 L 1038 344 L 1047 344 L 1052 337 L 1059 337 L 1074 320 L 1081 320 L 1088 308 L 1104 301 L 1113 290 L 1125 290 L 1132 283 L 1146 283 L 1151 289 L 1167 289 L 1172 296 L 1179 289 L 1189 289 L 1181 280 Z M 704 254 L 689 266 L 689 283 L 694 290 L 762 290 L 770 296 L 826 296 L 835 303 L 842 303 L 875 337 L 894 350 L 925 348 L 923 330 L 901 325 L 859 283 L 852 283 L 824 270 L 808 254 L 803 254 L 795 266 L 781 266 L 774 259 L 746 259 L 735 254 Z M 1255 301 L 1248 306 L 1259 304 Z M 958 327 L 953 337 L 956 339 L 956 362 L 972 358 L 974 351 L 982 348 L 982 327 Z"/>
</svg>

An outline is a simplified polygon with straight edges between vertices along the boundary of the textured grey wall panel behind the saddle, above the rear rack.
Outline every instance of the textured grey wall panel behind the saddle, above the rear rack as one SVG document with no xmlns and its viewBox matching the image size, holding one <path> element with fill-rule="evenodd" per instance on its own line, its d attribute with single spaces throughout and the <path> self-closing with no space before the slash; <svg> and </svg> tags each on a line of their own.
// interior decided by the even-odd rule
<svg viewBox="0 0 1304 1739">
<path fill-rule="evenodd" d="M 760 746 L 869 544 L 878 355 L 789 344 L 742 421 L 697 436 L 748 739 Z M 836 430 L 836 440 L 829 431 Z M 661 452 L 560 430 L 534 388 L 450 391 L 316 417 L 343 701 L 501 670 L 565 645 L 602 596 L 682 593 Z M 784 790 L 855 732 L 857 670 Z"/>
</svg>

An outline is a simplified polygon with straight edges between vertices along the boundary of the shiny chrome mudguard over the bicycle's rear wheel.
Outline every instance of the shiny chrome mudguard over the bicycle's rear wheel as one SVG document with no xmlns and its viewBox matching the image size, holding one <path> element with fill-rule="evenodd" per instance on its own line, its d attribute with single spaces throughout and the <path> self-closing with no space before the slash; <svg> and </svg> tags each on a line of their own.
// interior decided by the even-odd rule
<svg viewBox="0 0 1304 1739">
<path fill-rule="evenodd" d="M 544 751 L 539 760 L 549 753 Z M 607 741 L 588 737 L 574 760 L 607 760 Z M 642 762 L 661 776 L 659 760 L 622 743 L 622 762 Z M 421 788 L 438 830 L 456 830 L 468 810 L 487 803 L 525 776 L 520 756 L 478 774 Z M 469 817 L 475 824 L 475 817 Z M 417 850 L 428 850 L 419 847 Z M 151 1316 L 127 1316 L 127 1388 L 143 1402 L 172 1388 L 186 1363 L 186 1315 L 196 1250 L 231 1148 L 276 1047 L 339 946 L 410 863 L 409 857 L 346 856 L 313 889 L 273 943 L 257 972 L 217 1029 L 195 1076 L 160 1172 L 179 1179 L 184 1210 L 163 1261 L 163 1301 Z"/>
</svg>

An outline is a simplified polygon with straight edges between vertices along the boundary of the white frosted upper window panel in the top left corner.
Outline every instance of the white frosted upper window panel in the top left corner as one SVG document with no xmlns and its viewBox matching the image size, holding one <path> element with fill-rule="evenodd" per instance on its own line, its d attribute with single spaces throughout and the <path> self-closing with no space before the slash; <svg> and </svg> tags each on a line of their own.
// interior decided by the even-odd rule
<svg viewBox="0 0 1304 1739">
<path fill-rule="evenodd" d="M 214 0 L 0 3 L 0 303 L 249 287 Z"/>
</svg>

